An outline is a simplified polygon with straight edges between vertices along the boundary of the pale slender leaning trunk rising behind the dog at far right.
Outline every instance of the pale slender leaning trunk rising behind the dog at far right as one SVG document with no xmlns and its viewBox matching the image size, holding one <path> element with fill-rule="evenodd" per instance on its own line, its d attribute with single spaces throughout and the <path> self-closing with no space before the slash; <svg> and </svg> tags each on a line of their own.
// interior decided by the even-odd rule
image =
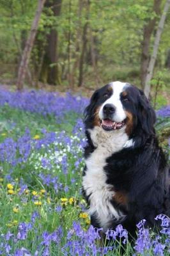
<svg viewBox="0 0 170 256">
<path fill-rule="evenodd" d="M 151 78 L 153 76 L 153 68 L 155 67 L 155 61 L 156 61 L 156 58 L 157 58 L 160 36 L 161 36 L 162 31 L 164 29 L 164 23 L 165 23 L 165 20 L 166 20 L 167 12 L 169 10 L 169 6 L 170 6 L 170 0 L 167 0 L 166 4 L 164 6 L 164 10 L 163 10 L 162 16 L 160 18 L 159 24 L 158 24 L 157 34 L 155 36 L 155 42 L 154 42 L 154 45 L 153 45 L 153 53 L 151 55 L 151 60 L 150 60 L 150 63 L 149 63 L 148 72 L 147 72 L 147 76 L 146 76 L 146 81 L 145 81 L 145 84 L 144 84 L 144 93 L 145 93 L 146 97 L 148 97 L 149 94 L 150 94 L 150 81 L 151 81 Z"/>
</svg>

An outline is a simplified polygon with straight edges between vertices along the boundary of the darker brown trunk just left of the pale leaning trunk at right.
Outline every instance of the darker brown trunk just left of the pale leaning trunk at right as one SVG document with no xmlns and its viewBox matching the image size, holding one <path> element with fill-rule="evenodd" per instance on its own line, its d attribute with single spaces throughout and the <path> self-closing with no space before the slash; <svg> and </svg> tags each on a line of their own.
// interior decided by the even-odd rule
<svg viewBox="0 0 170 256">
<path fill-rule="evenodd" d="M 160 15 L 160 4 L 161 0 L 154 0 L 153 3 L 153 12 Z M 147 68 L 150 61 L 150 40 L 153 30 L 155 28 L 155 24 L 157 21 L 157 17 L 150 20 L 148 24 L 144 26 L 143 29 L 143 42 L 142 42 L 142 54 L 141 54 L 141 85 L 144 88 L 144 82 L 146 79 Z"/>
</svg>

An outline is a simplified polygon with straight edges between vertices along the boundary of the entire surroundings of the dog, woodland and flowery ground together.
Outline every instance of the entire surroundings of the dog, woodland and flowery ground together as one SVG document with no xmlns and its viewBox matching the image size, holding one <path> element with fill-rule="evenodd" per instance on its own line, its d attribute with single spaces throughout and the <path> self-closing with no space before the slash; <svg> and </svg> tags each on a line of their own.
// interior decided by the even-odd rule
<svg viewBox="0 0 170 256">
<path fill-rule="evenodd" d="M 0 255 L 169 256 L 167 216 L 105 243 L 81 192 L 83 112 L 111 81 L 147 88 L 168 159 L 169 39 L 170 0 L 0 0 Z"/>
</svg>

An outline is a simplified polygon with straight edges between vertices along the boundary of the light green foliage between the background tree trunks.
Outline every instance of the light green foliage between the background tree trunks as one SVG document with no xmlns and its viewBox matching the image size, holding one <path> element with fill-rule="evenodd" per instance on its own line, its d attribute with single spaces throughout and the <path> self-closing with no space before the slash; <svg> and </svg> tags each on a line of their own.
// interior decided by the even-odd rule
<svg viewBox="0 0 170 256">
<path fill-rule="evenodd" d="M 69 3 L 71 3 L 71 8 L 69 8 Z M 82 3 L 82 6 L 80 3 Z M 161 8 L 163 8 L 163 4 L 164 1 Z M 17 75 L 20 54 L 29 35 L 36 5 L 37 1 L 35 0 L 0 0 L 0 65 L 3 66 L 0 76 L 3 81 L 8 80 L 8 78 L 15 79 Z M 58 32 L 59 56 L 57 63 L 51 63 L 50 67 L 58 65 L 60 79 L 63 84 L 67 84 L 68 33 L 70 33 L 70 70 L 72 70 L 75 83 L 77 83 L 82 33 L 84 24 L 88 21 L 88 44 L 84 57 L 85 83 L 91 83 L 91 85 L 96 83 L 91 60 L 92 35 L 97 75 L 103 81 L 111 81 L 112 77 L 118 77 L 123 81 L 130 79 L 130 82 L 140 85 L 139 68 L 143 28 L 148 20 L 155 17 L 153 1 L 91 0 L 89 17 L 87 17 L 86 9 L 87 1 L 79 0 L 63 0 L 61 15 L 59 16 L 54 15 L 52 8 L 44 8 L 29 64 L 32 78 L 37 79 L 37 73 L 40 73 L 39 68 L 41 69 L 41 61 L 47 45 L 47 35 L 49 35 L 51 29 L 54 29 Z M 159 70 L 163 70 L 166 61 L 170 36 L 169 24 L 170 15 L 167 16 L 158 51 L 157 66 Z M 153 37 L 151 38 L 152 42 Z M 117 67 L 121 67 L 122 75 L 114 75 L 114 70 Z M 132 70 L 130 74 L 127 74 L 128 68 Z M 9 75 L 9 73 L 11 74 Z M 136 74 L 139 75 L 136 76 Z M 45 74 L 42 72 L 41 76 L 40 78 L 43 80 Z M 87 77 L 89 77 L 88 81 Z M 165 72 L 163 80 L 166 82 L 167 88 L 169 86 L 169 76 L 168 74 L 165 75 Z"/>
</svg>

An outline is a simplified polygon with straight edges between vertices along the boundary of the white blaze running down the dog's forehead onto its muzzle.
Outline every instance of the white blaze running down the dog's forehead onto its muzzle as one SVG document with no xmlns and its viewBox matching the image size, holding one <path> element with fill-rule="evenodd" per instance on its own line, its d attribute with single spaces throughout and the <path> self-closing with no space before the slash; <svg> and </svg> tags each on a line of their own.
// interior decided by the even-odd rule
<svg viewBox="0 0 170 256">
<path fill-rule="evenodd" d="M 115 122 L 122 122 L 127 117 L 125 114 L 125 111 L 123 109 L 123 105 L 121 104 L 120 100 L 120 94 L 125 90 L 125 87 L 128 86 L 127 83 L 121 83 L 119 81 L 112 82 L 109 84 L 112 88 L 112 95 L 109 99 L 105 100 L 104 104 L 102 104 L 102 107 L 100 108 L 100 111 L 98 113 L 100 119 L 104 118 L 103 115 L 103 108 L 105 104 L 113 104 L 115 107 L 115 113 L 113 115 L 113 120 Z"/>
</svg>

